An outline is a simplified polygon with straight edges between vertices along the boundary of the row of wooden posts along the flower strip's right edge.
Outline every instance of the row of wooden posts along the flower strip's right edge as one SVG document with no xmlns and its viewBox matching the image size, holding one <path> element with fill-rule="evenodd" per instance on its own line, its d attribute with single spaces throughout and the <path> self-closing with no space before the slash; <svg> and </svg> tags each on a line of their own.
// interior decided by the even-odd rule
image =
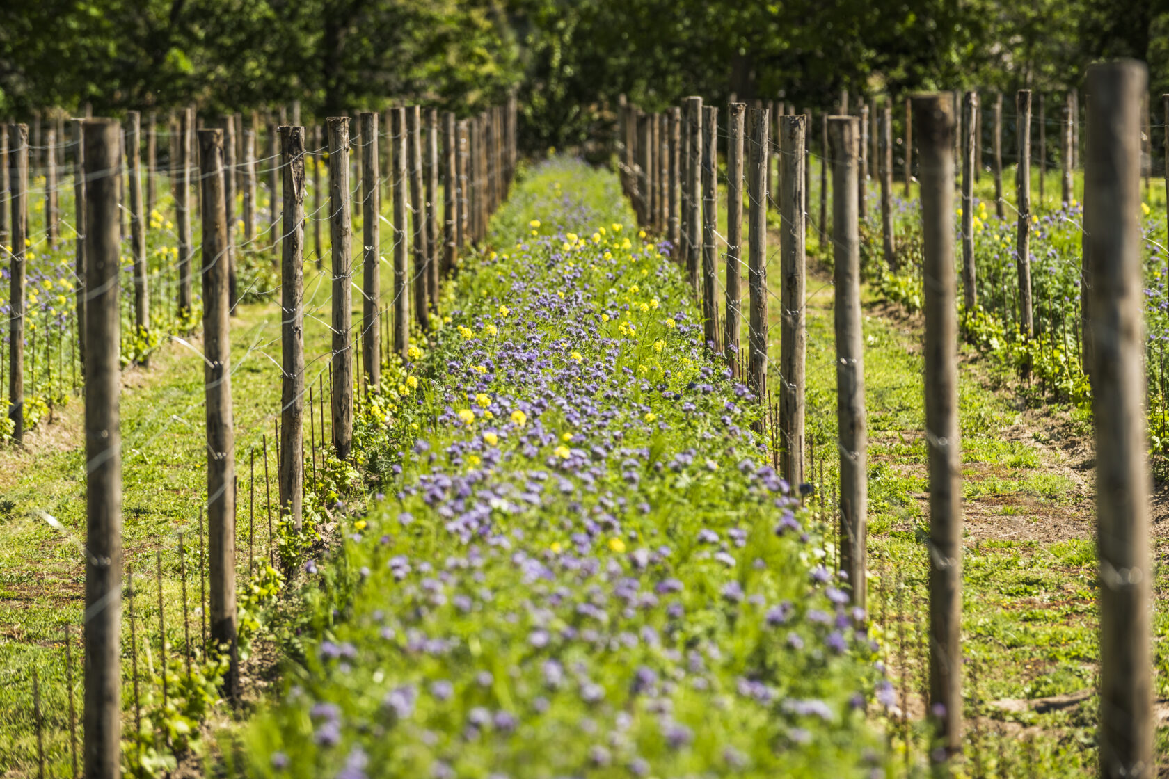
<svg viewBox="0 0 1169 779">
<path fill-rule="evenodd" d="M 1144 373 L 1142 320 L 1142 238 L 1139 223 L 1141 105 L 1147 71 L 1136 62 L 1088 69 L 1088 131 L 1085 169 L 1086 349 L 1092 355 L 1093 412 L 1097 426 L 1097 520 L 1100 558 L 1100 766 L 1107 777 L 1151 777 L 1153 712 L 1149 653 L 1150 559 L 1148 548 L 1148 471 L 1144 457 Z M 964 100 L 966 130 L 952 93 L 911 100 L 918 130 L 925 277 L 925 437 L 929 473 L 929 697 L 934 724 L 946 753 L 962 749 L 962 488 L 957 419 L 957 305 L 955 271 L 955 149 L 963 169 L 963 215 L 969 214 L 974 125 L 977 97 Z M 1030 95 L 1018 98 L 1025 116 Z M 725 237 L 724 347 L 732 370 L 741 319 L 739 267 L 746 147 L 747 267 L 749 325 L 747 385 L 767 392 L 768 300 L 766 207 L 769 199 L 767 152 L 773 148 L 767 109 L 727 107 L 727 225 Z M 683 120 L 685 114 L 685 120 Z M 879 130 L 883 190 L 888 188 L 888 107 Z M 746 127 L 743 118 L 746 116 Z M 779 131 L 779 209 L 781 267 L 780 434 L 781 475 L 804 480 L 804 347 L 807 114 L 783 114 Z M 841 575 L 853 603 L 866 597 L 866 415 L 864 340 L 860 318 L 859 203 L 862 121 L 825 118 L 830 140 L 832 258 L 837 373 L 837 448 L 839 452 Z M 706 340 L 718 350 L 718 285 L 714 176 L 719 139 L 718 109 L 700 97 L 666 114 L 622 109 L 621 174 L 641 223 L 670 239 L 701 302 Z M 1029 155 L 1028 127 L 1021 123 L 1022 159 Z M 655 130 L 657 128 L 657 130 Z M 638 140 L 635 141 L 634 138 Z M 964 142 L 963 142 L 964 139 Z M 1021 168 L 1026 192 L 1026 166 Z M 664 183 L 663 183 L 664 182 Z M 887 192 L 883 192 L 883 196 Z M 1021 196 L 1019 241 L 1025 256 L 1029 208 Z M 1026 217 L 1026 218 L 1025 218 Z M 963 237 L 970 235 L 964 222 Z M 886 242 L 890 236 L 886 236 Z M 970 298 L 973 262 L 963 246 L 963 293 Z M 1026 264 L 1021 260 L 1021 277 Z M 699 272 L 699 270 L 701 272 Z M 1022 283 L 1021 283 L 1022 285 Z"/>
</svg>

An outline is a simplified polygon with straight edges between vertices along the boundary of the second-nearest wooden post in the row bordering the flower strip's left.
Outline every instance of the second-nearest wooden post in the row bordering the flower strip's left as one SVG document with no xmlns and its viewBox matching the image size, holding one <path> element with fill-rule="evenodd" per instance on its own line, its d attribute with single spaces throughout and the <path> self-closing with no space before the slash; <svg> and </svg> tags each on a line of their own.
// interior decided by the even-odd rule
<svg viewBox="0 0 1169 779">
<path fill-rule="evenodd" d="M 228 302 L 223 131 L 199 131 L 203 223 L 203 380 L 207 395 L 207 527 L 212 644 L 228 655 L 223 695 L 240 693 L 235 611 L 235 430 Z M 275 167 L 275 165 L 272 166 Z"/>
</svg>

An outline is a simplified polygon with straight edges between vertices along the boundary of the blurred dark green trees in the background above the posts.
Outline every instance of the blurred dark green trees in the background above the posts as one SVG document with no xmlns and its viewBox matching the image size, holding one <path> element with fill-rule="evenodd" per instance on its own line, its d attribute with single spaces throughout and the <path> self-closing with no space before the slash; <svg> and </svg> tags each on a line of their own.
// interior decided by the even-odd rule
<svg viewBox="0 0 1169 779">
<path fill-rule="evenodd" d="M 826 106 L 841 89 L 1061 90 L 1101 57 L 1169 91 L 1160 0 L 8 0 L 0 114 L 307 114 L 409 100 L 461 113 L 517 90 L 530 148 L 583 141 L 620 93 Z"/>
</svg>

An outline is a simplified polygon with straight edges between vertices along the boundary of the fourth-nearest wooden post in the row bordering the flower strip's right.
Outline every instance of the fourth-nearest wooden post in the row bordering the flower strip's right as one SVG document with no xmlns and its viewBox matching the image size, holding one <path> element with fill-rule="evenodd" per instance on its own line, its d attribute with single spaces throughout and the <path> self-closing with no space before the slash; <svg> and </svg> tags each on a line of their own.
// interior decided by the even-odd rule
<svg viewBox="0 0 1169 779">
<path fill-rule="evenodd" d="M 887 109 L 886 109 L 887 110 Z M 793 487 L 804 481 L 804 320 L 808 190 L 804 189 L 804 147 L 808 117 L 783 117 L 780 123 L 780 263 L 782 272 L 780 320 L 780 431 L 783 452 L 780 473 Z"/>
</svg>

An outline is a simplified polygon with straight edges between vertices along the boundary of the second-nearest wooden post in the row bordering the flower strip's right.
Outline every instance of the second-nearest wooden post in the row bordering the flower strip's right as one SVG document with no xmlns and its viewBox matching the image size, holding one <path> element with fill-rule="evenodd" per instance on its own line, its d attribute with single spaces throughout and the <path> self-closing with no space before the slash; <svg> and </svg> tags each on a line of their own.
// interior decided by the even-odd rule
<svg viewBox="0 0 1169 779">
<path fill-rule="evenodd" d="M 921 137 L 929 461 L 929 703 L 947 759 L 962 749 L 962 454 L 954 306 L 954 116 L 948 95 L 913 100 Z"/>
</svg>

